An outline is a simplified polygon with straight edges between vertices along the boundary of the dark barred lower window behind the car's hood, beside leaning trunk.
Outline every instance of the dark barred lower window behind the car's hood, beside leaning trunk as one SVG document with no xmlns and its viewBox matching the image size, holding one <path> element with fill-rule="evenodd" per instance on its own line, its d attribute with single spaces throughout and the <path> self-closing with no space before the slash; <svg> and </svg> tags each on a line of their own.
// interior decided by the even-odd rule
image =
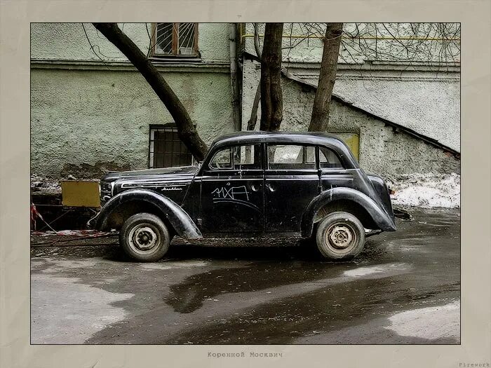
<svg viewBox="0 0 491 368">
<path fill-rule="evenodd" d="M 149 137 L 149 168 L 172 168 L 193 163 L 193 156 L 177 135 L 175 125 L 153 125 Z"/>
</svg>

